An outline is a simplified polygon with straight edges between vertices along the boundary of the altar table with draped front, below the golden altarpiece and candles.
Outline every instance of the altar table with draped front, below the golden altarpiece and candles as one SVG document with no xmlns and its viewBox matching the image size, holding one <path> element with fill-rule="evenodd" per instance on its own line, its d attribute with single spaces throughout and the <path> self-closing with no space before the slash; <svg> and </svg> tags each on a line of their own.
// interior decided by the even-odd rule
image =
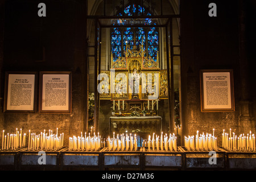
<svg viewBox="0 0 256 182">
<path fill-rule="evenodd" d="M 156 116 L 112 116 L 109 118 L 110 133 L 145 133 L 160 134 L 162 132 L 162 117 Z"/>
</svg>

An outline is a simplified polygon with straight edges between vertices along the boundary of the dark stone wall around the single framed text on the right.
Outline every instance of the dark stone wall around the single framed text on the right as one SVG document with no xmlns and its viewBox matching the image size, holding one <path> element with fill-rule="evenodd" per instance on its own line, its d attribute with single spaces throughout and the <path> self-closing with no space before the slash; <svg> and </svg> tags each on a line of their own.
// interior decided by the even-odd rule
<svg viewBox="0 0 256 182">
<path fill-rule="evenodd" d="M 181 4 L 181 92 L 184 135 L 212 133 L 221 138 L 222 130 L 236 134 L 255 133 L 255 118 L 241 121 L 241 67 L 239 8 L 237 2 L 217 3 L 217 17 L 208 16 L 208 1 L 183 1 Z M 200 69 L 233 69 L 234 112 L 200 111 Z M 247 90 L 250 92 L 250 90 Z M 218 140 L 218 142 L 221 142 Z"/>
</svg>

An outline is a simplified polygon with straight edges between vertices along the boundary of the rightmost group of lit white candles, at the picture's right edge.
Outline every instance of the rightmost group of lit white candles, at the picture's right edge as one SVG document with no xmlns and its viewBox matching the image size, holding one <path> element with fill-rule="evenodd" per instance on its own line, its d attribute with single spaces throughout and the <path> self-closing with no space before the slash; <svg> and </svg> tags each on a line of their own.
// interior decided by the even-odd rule
<svg viewBox="0 0 256 182">
<path fill-rule="evenodd" d="M 254 134 L 240 134 L 239 137 L 233 133 L 231 134 L 231 129 L 229 134 L 225 133 L 223 130 L 222 133 L 222 147 L 230 151 L 255 151 L 255 137 Z"/>
</svg>

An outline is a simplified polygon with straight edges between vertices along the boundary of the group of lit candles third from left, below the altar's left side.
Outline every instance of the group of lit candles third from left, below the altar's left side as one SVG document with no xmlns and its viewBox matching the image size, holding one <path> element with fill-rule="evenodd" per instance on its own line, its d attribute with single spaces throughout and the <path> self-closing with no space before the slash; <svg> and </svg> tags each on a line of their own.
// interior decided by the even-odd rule
<svg viewBox="0 0 256 182">
<path fill-rule="evenodd" d="M 69 151 L 97 151 L 101 147 L 101 136 L 94 135 L 86 137 L 86 133 L 83 136 L 81 133 L 81 136 L 76 137 L 75 135 L 73 137 L 69 137 L 68 140 L 68 150 Z"/>
</svg>

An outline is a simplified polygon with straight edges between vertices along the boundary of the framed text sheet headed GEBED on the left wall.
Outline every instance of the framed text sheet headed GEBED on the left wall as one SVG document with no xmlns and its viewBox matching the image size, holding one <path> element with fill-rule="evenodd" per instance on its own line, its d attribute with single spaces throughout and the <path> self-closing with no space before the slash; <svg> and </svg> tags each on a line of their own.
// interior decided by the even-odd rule
<svg viewBox="0 0 256 182">
<path fill-rule="evenodd" d="M 71 113 L 71 72 L 40 72 L 39 113 Z"/>
</svg>

